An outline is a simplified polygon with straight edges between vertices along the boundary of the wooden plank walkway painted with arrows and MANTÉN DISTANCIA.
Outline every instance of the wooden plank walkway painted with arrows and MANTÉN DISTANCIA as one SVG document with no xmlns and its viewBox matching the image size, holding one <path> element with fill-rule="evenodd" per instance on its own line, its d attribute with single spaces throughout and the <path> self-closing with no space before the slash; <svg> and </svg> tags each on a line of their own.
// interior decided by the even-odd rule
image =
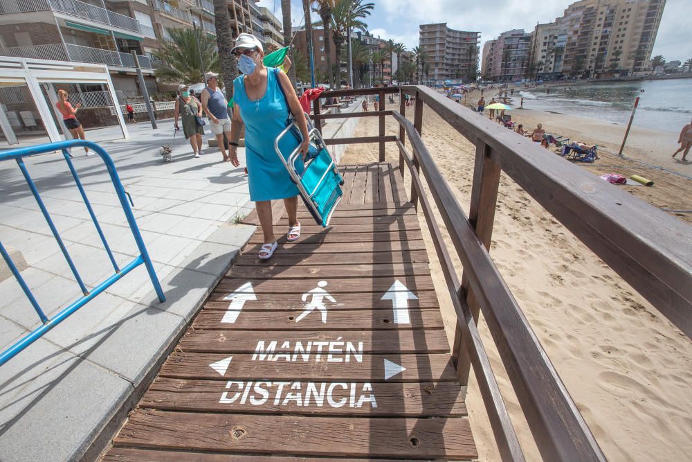
<svg viewBox="0 0 692 462">
<path fill-rule="evenodd" d="M 255 233 L 104 460 L 477 456 L 401 177 L 343 169 L 331 229 L 303 208 L 270 263 Z"/>
</svg>

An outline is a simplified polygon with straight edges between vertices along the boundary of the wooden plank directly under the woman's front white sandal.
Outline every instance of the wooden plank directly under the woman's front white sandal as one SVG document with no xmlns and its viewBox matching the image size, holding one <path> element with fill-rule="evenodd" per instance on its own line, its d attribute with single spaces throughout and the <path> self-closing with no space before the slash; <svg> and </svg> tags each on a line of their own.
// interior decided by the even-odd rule
<svg viewBox="0 0 692 462">
<path fill-rule="evenodd" d="M 428 263 L 428 252 L 424 250 L 403 252 L 362 252 L 334 254 L 276 254 L 271 262 L 260 260 L 255 253 L 244 253 L 235 262 L 236 266 L 296 266 L 296 265 L 372 265 L 374 263 Z"/>
</svg>

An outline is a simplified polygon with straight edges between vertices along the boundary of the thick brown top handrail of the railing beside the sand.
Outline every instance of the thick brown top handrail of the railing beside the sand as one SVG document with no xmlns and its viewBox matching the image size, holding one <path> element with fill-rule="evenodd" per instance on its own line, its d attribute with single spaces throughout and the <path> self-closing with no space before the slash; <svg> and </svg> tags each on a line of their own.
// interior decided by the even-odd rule
<svg viewBox="0 0 692 462">
<path fill-rule="evenodd" d="M 692 338 L 692 231 L 688 224 L 547 155 L 427 87 L 403 87 L 477 144 L 549 213 Z"/>
</svg>

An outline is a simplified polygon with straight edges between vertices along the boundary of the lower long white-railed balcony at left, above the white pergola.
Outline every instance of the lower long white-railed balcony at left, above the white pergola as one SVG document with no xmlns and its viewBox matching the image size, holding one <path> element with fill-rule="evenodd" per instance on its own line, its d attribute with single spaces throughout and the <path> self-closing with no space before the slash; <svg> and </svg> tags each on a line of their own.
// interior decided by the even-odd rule
<svg viewBox="0 0 692 462">
<path fill-rule="evenodd" d="M 134 58 L 130 53 L 91 48 L 73 44 L 48 44 L 34 46 L 15 46 L 0 48 L 0 55 L 13 57 L 28 57 L 37 60 L 55 60 L 69 62 L 91 62 L 107 64 L 114 67 L 134 68 Z M 138 56 L 142 69 L 152 69 L 148 56 Z"/>
</svg>

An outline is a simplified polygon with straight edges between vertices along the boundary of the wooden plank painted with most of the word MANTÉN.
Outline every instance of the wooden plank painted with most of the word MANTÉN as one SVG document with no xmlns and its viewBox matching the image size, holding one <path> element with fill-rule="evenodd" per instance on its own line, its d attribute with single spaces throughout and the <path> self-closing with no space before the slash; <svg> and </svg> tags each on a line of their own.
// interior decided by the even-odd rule
<svg viewBox="0 0 692 462">
<path fill-rule="evenodd" d="M 242 315 L 242 314 L 241 314 Z M 311 312 L 307 316 L 320 319 L 320 312 Z M 298 319 L 298 318 L 296 318 Z M 327 312 L 327 323 L 329 323 Z M 334 332 L 330 330 L 268 330 L 266 332 L 243 332 L 224 330 L 188 330 L 183 336 L 178 348 L 188 353 L 253 353 L 260 348 L 260 342 L 264 346 L 275 343 L 276 351 L 290 351 L 293 346 L 302 342 L 305 348 L 308 342 L 315 348 L 319 348 L 316 342 L 322 342 L 325 358 L 327 348 L 342 348 L 343 353 L 334 353 L 335 356 L 348 356 L 347 342 L 358 346 L 358 353 L 448 353 L 449 343 L 444 330 L 349 330 L 348 332 Z M 290 348 L 282 348 L 288 342 Z M 362 345 L 360 344 L 362 342 Z M 329 344 L 329 345 L 328 345 Z M 362 347 L 362 348 L 361 348 Z"/>
</svg>

